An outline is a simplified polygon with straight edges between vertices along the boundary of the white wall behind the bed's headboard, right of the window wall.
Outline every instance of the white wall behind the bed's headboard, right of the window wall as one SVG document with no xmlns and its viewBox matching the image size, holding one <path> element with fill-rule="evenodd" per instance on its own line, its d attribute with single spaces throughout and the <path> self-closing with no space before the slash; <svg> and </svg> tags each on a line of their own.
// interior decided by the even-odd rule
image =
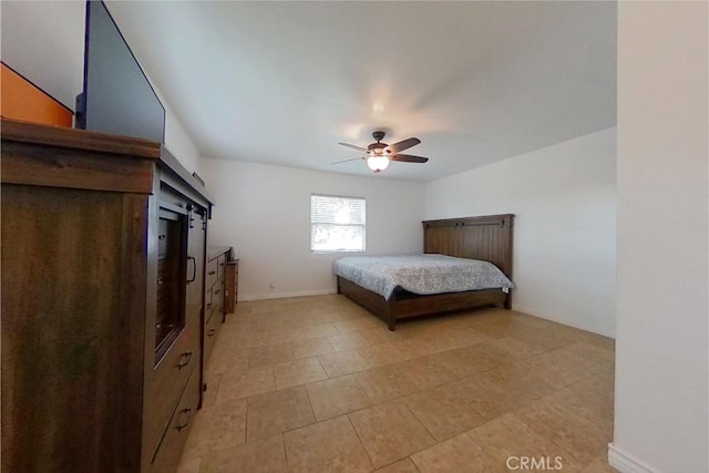
<svg viewBox="0 0 709 473">
<path fill-rule="evenodd" d="M 615 333 L 616 131 L 425 186 L 425 218 L 515 214 L 513 308 Z"/>
</svg>

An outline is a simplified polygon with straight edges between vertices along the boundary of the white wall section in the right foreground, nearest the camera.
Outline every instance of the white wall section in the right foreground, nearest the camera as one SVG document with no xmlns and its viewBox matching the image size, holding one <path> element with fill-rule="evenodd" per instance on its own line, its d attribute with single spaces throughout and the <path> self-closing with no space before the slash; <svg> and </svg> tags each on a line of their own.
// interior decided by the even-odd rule
<svg viewBox="0 0 709 473">
<path fill-rule="evenodd" d="M 708 7 L 618 4 L 612 464 L 707 472 Z"/>
</svg>

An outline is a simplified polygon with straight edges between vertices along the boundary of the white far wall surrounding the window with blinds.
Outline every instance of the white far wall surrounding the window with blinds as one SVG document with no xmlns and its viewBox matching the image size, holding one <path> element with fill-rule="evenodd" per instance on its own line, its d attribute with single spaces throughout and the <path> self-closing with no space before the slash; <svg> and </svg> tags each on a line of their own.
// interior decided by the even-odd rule
<svg viewBox="0 0 709 473">
<path fill-rule="evenodd" d="M 312 193 L 367 199 L 367 254 L 423 249 L 421 183 L 212 158 L 202 164 L 216 200 L 209 244 L 236 249 L 240 300 L 336 291 L 332 261 L 348 254 L 310 251 Z"/>
</svg>

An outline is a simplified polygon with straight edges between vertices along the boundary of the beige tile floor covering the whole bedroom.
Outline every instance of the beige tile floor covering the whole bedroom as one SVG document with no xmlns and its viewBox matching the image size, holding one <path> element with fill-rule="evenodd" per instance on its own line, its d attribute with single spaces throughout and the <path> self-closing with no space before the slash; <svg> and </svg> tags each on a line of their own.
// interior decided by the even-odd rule
<svg viewBox="0 0 709 473">
<path fill-rule="evenodd" d="M 516 311 L 239 302 L 206 381 L 181 473 L 613 472 L 613 340 Z"/>
</svg>

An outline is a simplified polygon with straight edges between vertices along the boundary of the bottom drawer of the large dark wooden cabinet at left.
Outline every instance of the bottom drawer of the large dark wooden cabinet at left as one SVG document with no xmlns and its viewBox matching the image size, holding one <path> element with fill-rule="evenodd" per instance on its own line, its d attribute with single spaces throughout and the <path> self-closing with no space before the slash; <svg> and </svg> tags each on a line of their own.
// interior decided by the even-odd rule
<svg viewBox="0 0 709 473">
<path fill-rule="evenodd" d="M 199 404 L 199 370 L 194 370 L 182 392 L 179 402 L 169 418 L 167 428 L 162 435 L 162 441 L 151 470 L 153 472 L 174 472 L 179 464 L 182 450 L 189 435 L 189 429 Z"/>
</svg>

